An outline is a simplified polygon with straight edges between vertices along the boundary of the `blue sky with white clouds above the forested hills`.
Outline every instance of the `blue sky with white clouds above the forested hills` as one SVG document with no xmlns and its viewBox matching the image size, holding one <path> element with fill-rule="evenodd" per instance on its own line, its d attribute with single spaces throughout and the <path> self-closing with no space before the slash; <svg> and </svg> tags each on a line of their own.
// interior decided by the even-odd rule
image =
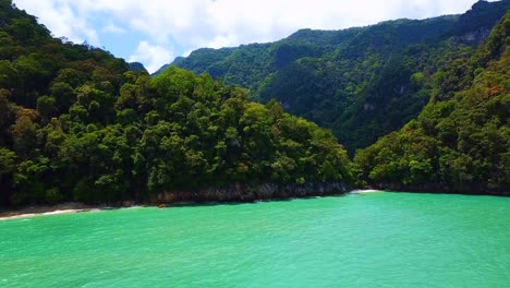
<svg viewBox="0 0 510 288">
<path fill-rule="evenodd" d="M 14 0 L 56 37 L 87 41 L 149 72 L 203 48 L 275 41 L 300 28 L 341 29 L 463 13 L 476 0 Z"/>
</svg>

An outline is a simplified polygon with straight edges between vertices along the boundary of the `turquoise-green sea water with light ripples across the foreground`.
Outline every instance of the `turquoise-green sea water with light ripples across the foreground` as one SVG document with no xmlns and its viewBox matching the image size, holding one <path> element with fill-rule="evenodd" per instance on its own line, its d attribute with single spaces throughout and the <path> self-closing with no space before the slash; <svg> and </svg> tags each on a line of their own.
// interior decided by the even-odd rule
<svg viewBox="0 0 510 288">
<path fill-rule="evenodd" d="M 509 287 L 510 199 L 372 193 L 0 221 L 0 287 Z"/>
</svg>

